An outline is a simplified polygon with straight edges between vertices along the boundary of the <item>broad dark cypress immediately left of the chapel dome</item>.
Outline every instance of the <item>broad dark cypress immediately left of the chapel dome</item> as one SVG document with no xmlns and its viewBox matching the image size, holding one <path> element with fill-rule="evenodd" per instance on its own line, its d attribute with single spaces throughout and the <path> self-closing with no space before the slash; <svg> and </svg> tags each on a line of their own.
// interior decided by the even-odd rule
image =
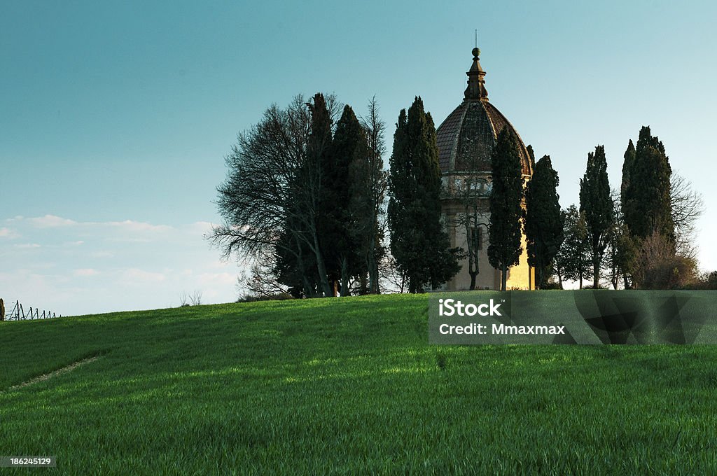
<svg viewBox="0 0 717 476">
<path fill-rule="evenodd" d="M 460 270 L 441 222 L 441 171 L 436 130 L 416 97 L 399 114 L 389 175 L 391 253 L 409 280 L 409 292 L 435 288 Z"/>
</svg>

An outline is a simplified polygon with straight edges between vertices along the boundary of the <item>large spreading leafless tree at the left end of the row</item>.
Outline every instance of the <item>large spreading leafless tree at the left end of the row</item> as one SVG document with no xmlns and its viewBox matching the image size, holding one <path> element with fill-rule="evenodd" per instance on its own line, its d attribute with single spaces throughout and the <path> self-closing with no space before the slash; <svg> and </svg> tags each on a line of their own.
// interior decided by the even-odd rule
<svg viewBox="0 0 717 476">
<path fill-rule="evenodd" d="M 315 100 L 318 97 L 323 99 L 317 95 Z M 303 263 L 303 249 L 308 249 L 321 292 L 328 296 L 333 291 L 317 227 L 322 176 L 318 156 L 328 143 L 311 140 L 314 107 L 298 95 L 286 109 L 272 105 L 260 123 L 238 135 L 226 158 L 227 180 L 217 189 L 224 224 L 214 227 L 209 240 L 224 257 L 237 253 L 245 259 L 281 248 Z M 333 96 L 327 97 L 326 107 L 335 117 L 338 103 Z"/>
</svg>

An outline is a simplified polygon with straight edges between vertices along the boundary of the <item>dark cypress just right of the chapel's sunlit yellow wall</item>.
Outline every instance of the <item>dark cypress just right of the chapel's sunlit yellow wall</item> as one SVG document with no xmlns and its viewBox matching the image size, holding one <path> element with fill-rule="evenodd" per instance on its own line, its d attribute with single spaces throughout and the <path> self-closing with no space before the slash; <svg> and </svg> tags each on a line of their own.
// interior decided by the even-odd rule
<svg viewBox="0 0 717 476">
<path fill-rule="evenodd" d="M 552 262 L 563 242 L 563 216 L 557 186 L 558 173 L 550 156 L 543 156 L 526 188 L 526 247 L 528 265 L 535 267 L 536 285 L 548 281 Z"/>
</svg>

